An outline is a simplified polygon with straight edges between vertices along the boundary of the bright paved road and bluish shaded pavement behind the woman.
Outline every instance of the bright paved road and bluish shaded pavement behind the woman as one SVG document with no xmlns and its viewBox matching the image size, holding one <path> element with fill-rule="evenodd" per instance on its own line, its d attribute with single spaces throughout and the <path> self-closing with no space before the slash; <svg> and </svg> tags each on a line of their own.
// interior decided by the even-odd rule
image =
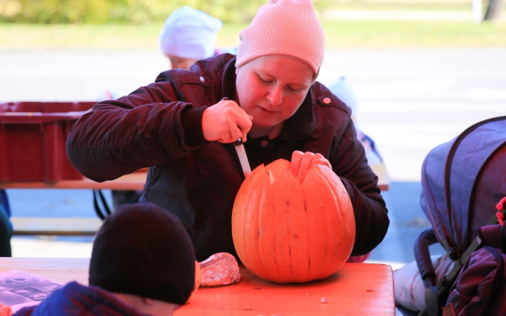
<svg viewBox="0 0 506 316">
<path fill-rule="evenodd" d="M 394 181 L 384 192 L 391 226 L 372 259 L 413 260 L 413 241 L 429 227 L 419 206 L 422 161 L 467 126 L 506 114 L 505 56 L 506 48 L 327 51 L 318 79 L 331 84 L 344 75 L 355 86 L 358 124 Z M 122 96 L 152 82 L 167 62 L 157 51 L 0 51 L 0 65 L 5 102 L 96 100 L 106 90 Z M 93 216 L 89 192 L 9 194 L 17 216 L 69 209 Z"/>
</svg>

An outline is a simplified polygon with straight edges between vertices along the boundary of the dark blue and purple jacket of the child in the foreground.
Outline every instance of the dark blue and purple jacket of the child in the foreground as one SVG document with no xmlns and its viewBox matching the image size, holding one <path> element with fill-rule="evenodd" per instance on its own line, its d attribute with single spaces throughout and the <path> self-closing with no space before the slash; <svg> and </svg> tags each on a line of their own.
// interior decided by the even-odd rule
<svg viewBox="0 0 506 316">
<path fill-rule="evenodd" d="M 40 305 L 22 308 L 14 316 L 148 316 L 99 287 L 70 282 Z"/>
</svg>

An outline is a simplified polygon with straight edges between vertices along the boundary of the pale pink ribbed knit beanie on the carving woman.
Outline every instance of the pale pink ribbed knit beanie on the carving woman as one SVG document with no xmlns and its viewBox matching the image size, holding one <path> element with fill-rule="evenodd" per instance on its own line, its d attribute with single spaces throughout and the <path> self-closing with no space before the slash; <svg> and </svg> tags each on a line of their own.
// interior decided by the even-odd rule
<svg viewBox="0 0 506 316">
<path fill-rule="evenodd" d="M 311 0 L 269 0 L 239 34 L 235 67 L 264 55 L 290 55 L 318 74 L 325 54 L 323 28 Z"/>
</svg>

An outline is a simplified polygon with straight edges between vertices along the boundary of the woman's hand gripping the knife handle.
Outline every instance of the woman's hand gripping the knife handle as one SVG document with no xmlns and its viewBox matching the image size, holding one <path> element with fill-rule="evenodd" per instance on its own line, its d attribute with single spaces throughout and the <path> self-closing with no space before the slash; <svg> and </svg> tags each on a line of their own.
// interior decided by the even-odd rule
<svg viewBox="0 0 506 316">
<path fill-rule="evenodd" d="M 232 100 L 221 100 L 207 107 L 202 114 L 202 133 L 206 140 L 218 140 L 220 143 L 233 143 L 242 138 L 251 129 L 253 117 Z"/>
</svg>

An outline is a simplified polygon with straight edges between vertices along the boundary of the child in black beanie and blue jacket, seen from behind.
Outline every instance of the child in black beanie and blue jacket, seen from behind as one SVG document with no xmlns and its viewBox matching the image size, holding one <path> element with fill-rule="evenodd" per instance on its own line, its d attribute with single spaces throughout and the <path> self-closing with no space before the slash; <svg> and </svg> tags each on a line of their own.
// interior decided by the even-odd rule
<svg viewBox="0 0 506 316">
<path fill-rule="evenodd" d="M 155 204 L 122 206 L 93 242 L 89 284 L 70 282 L 15 315 L 172 315 L 195 287 L 190 237 Z"/>
</svg>

